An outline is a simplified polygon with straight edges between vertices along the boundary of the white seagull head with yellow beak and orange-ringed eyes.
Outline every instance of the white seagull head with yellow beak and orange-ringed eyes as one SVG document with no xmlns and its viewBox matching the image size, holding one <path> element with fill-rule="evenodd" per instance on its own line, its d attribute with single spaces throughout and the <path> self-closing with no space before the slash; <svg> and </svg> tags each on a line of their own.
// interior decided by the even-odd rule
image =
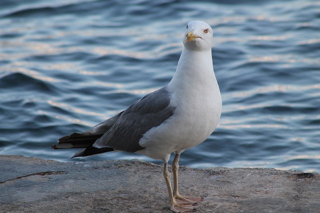
<svg viewBox="0 0 320 213">
<path fill-rule="evenodd" d="M 204 21 L 190 21 L 186 24 L 183 45 L 190 50 L 208 50 L 212 46 L 212 28 Z"/>
</svg>

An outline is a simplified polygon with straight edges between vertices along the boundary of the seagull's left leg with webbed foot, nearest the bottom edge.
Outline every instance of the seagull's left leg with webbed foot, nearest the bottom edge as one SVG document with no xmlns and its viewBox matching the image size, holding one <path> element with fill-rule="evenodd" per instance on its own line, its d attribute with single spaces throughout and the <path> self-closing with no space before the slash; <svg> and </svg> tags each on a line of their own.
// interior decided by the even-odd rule
<svg viewBox="0 0 320 213">
<path fill-rule="evenodd" d="M 179 205 L 176 203 L 175 198 L 173 197 L 170 177 L 171 174 L 168 171 L 168 163 L 164 162 L 163 165 L 163 177 L 166 183 L 166 187 L 168 190 L 169 198 L 170 198 L 170 209 L 174 213 L 185 213 L 185 212 L 194 212 L 192 205 Z"/>
</svg>

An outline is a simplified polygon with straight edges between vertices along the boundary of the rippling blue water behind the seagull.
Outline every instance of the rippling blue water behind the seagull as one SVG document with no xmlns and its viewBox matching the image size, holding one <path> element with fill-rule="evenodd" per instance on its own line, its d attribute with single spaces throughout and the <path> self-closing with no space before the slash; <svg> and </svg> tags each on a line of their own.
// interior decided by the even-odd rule
<svg viewBox="0 0 320 213">
<path fill-rule="evenodd" d="M 318 0 L 1 0 L 0 154 L 52 150 L 171 79 L 185 24 L 213 28 L 215 132 L 180 164 L 320 172 Z M 121 152 L 81 161 L 132 159 Z"/>
</svg>

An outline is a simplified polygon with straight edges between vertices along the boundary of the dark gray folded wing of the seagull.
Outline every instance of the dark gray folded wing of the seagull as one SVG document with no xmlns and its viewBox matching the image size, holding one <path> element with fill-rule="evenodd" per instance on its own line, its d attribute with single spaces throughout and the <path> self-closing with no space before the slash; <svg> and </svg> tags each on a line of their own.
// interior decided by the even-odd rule
<svg viewBox="0 0 320 213">
<path fill-rule="evenodd" d="M 162 87 L 134 102 L 115 121 L 111 128 L 96 140 L 93 147 L 110 147 L 114 150 L 136 152 L 144 149 L 138 142 L 149 129 L 159 126 L 173 115 L 170 95 Z"/>
</svg>

